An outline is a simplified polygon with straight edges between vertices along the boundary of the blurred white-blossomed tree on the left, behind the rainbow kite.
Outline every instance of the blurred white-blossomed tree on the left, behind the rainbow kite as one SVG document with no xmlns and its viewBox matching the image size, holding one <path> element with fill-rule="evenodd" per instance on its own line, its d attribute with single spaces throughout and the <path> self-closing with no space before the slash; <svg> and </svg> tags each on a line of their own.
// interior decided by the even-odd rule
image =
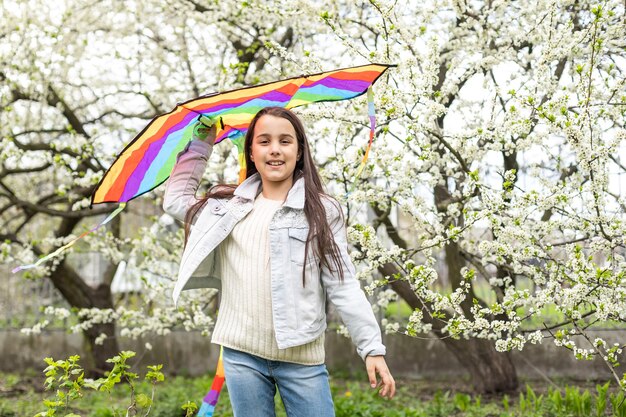
<svg viewBox="0 0 626 417">
<path fill-rule="evenodd" d="M 52 252 L 113 210 L 89 209 L 90 195 L 148 120 L 201 93 L 258 82 L 266 65 L 262 40 L 288 48 L 293 38 L 288 29 L 273 29 L 280 18 L 238 25 L 238 19 L 252 19 L 234 1 L 222 2 L 221 9 L 188 1 L 40 3 L 9 2 L 0 19 L 0 259 L 11 267 Z M 106 369 L 119 351 L 116 322 L 122 335 L 131 336 L 162 334 L 181 323 L 188 329 L 210 325 L 199 302 L 176 313 L 150 309 L 149 302 L 140 311 L 114 306 L 111 282 L 122 259 L 149 253 L 138 267 L 158 271 L 164 283 L 144 296 L 163 298 L 174 271 L 159 267 L 176 262 L 182 248 L 180 233 L 179 244 L 170 247 L 163 242 L 169 239 L 133 230 L 125 218 L 77 245 L 109 261 L 96 285 L 63 256 L 24 273 L 52 280 L 76 309 L 73 330 L 85 334 L 88 366 L 95 370 Z M 70 314 L 53 306 L 46 312 Z"/>
</svg>

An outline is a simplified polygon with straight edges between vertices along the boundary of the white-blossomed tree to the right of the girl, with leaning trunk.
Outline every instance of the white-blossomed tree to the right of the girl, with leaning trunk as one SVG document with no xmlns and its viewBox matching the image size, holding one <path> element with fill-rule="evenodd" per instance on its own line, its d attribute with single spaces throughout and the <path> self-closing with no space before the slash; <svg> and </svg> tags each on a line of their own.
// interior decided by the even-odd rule
<svg viewBox="0 0 626 417">
<path fill-rule="evenodd" d="M 479 391 L 514 388 L 497 352 L 544 339 L 600 357 L 626 388 L 622 345 L 588 331 L 626 319 L 624 7 L 372 0 L 320 15 L 352 56 L 398 64 L 346 200 L 377 216 L 350 233 L 362 274 L 395 291 L 380 305 L 397 294 L 414 309 L 388 328 L 442 338 Z M 350 178 L 339 155 L 327 174 Z"/>
</svg>

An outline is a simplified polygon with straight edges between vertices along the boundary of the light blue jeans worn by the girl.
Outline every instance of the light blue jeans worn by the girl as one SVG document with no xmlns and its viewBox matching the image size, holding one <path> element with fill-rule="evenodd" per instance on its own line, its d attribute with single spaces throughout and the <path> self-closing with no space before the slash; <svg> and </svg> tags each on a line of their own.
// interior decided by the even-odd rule
<svg viewBox="0 0 626 417">
<path fill-rule="evenodd" d="M 276 387 L 289 417 L 334 417 L 325 365 L 272 361 L 224 347 L 226 387 L 235 417 L 274 417 Z"/>
</svg>

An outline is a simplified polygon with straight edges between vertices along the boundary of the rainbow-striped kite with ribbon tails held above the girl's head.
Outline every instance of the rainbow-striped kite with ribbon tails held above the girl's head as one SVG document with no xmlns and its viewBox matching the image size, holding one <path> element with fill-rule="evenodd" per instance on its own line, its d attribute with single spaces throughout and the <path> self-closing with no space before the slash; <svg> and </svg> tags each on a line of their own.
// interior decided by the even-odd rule
<svg viewBox="0 0 626 417">
<path fill-rule="evenodd" d="M 33 268 L 62 253 L 85 235 L 98 230 L 118 215 L 130 200 L 164 183 L 170 176 L 177 155 L 191 141 L 193 126 L 201 115 L 220 120 L 215 143 L 232 140 L 239 150 L 239 182 L 245 179 L 244 136 L 254 115 L 264 107 L 288 109 L 320 101 L 347 100 L 368 92 L 370 135 L 367 149 L 356 176 L 365 166 L 374 139 L 374 103 L 372 84 L 394 65 L 369 64 L 319 74 L 215 93 L 178 104 L 169 113 L 155 117 L 124 148 L 96 186 L 91 205 L 120 203 L 102 223 L 65 246 L 31 265 L 19 266 L 17 272 Z"/>
</svg>

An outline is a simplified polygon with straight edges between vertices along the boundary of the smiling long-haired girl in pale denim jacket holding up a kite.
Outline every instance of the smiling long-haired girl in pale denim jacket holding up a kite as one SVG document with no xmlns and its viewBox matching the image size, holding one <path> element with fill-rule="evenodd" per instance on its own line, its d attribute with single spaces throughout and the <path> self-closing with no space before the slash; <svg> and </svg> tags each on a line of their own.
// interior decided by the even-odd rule
<svg viewBox="0 0 626 417">
<path fill-rule="evenodd" d="M 323 191 L 302 122 L 282 107 L 262 109 L 245 137 L 246 180 L 213 187 L 198 200 L 215 134 L 215 126 L 196 124 L 163 207 L 186 223 L 174 302 L 182 290 L 221 288 L 211 341 L 224 347 L 235 416 L 274 416 L 276 388 L 289 416 L 334 416 L 324 365 L 327 297 L 372 388 L 392 398 L 395 382 L 354 278 L 343 212 Z"/>
</svg>

